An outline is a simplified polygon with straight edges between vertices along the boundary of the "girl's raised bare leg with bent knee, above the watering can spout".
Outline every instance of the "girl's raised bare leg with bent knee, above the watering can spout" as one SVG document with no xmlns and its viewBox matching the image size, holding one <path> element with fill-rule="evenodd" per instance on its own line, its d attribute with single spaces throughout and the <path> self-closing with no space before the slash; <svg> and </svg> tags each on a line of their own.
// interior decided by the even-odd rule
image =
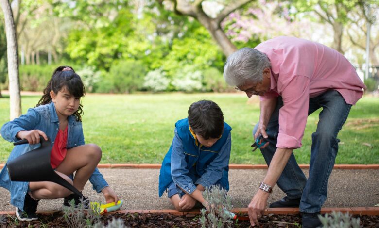
<svg viewBox="0 0 379 228">
<path fill-rule="evenodd" d="M 65 159 L 56 170 L 68 176 L 76 171 L 73 185 L 82 191 L 101 158 L 102 151 L 95 144 L 73 147 L 67 150 Z"/>
</svg>

